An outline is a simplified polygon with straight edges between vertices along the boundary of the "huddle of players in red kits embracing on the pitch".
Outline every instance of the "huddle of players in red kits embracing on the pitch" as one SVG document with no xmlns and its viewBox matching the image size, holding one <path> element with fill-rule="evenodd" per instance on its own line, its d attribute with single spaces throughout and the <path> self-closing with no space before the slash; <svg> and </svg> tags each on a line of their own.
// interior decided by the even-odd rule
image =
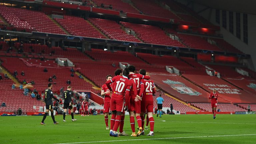
<svg viewBox="0 0 256 144">
<path fill-rule="evenodd" d="M 129 112 L 131 136 L 145 135 L 144 119 L 147 114 L 150 123 L 148 136 L 154 136 L 153 118 L 153 94 L 155 93 L 154 82 L 150 80 L 150 74 L 141 69 L 136 74 L 133 65 L 128 68 L 117 69 L 115 76 L 107 75 L 107 82 L 102 86 L 101 95 L 104 96 L 104 113 L 106 129 L 110 129 L 110 136 L 128 136 L 123 131 L 125 111 Z M 108 113 L 112 111 L 110 128 L 108 126 Z M 139 131 L 135 133 L 136 117 Z M 119 132 L 117 129 L 119 128 Z"/>
</svg>

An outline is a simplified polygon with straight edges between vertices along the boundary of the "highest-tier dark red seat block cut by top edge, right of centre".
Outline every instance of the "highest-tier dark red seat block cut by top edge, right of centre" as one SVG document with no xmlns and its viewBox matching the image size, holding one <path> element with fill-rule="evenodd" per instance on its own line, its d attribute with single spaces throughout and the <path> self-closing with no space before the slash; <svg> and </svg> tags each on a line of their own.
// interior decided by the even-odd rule
<svg viewBox="0 0 256 144">
<path fill-rule="evenodd" d="M 171 11 L 163 9 L 154 0 L 132 0 L 132 3 L 137 9 L 142 11 L 142 13 L 145 15 L 164 17 L 170 19 L 180 19 Z"/>
</svg>

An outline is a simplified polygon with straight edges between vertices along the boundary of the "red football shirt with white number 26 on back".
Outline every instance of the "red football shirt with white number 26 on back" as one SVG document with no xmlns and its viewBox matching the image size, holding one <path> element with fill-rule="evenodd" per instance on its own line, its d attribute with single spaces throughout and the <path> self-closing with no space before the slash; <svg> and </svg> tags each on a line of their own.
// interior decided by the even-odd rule
<svg viewBox="0 0 256 144">
<path fill-rule="evenodd" d="M 152 80 L 140 80 L 140 94 L 142 94 L 142 101 L 154 101 L 153 94 L 156 93 L 154 88 L 154 82 Z"/>
</svg>

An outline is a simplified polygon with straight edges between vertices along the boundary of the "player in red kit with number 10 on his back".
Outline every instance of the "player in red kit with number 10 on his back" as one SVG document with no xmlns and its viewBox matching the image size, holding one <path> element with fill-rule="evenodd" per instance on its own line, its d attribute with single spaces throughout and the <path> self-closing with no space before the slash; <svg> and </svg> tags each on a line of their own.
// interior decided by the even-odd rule
<svg viewBox="0 0 256 144">
<path fill-rule="evenodd" d="M 113 93 L 111 96 L 111 110 L 112 115 L 116 115 L 116 120 L 113 132 L 110 131 L 110 135 L 114 137 L 119 137 L 117 129 L 121 121 L 121 114 L 124 111 L 124 106 L 125 109 L 127 109 L 127 105 L 129 104 L 129 95 L 130 90 L 132 88 L 132 83 L 129 81 L 127 77 L 128 74 L 129 69 L 125 68 L 123 70 L 123 76 L 115 76 L 106 82 L 107 87 Z M 111 83 L 113 83 L 113 89 L 110 86 Z"/>
</svg>

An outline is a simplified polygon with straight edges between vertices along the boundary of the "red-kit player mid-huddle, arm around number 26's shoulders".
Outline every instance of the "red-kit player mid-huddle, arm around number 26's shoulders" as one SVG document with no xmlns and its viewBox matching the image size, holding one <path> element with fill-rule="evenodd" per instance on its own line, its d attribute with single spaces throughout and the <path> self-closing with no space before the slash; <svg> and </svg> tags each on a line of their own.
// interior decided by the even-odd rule
<svg viewBox="0 0 256 144">
<path fill-rule="evenodd" d="M 135 82 L 135 88 L 133 89 L 134 91 L 131 91 L 130 93 L 130 105 L 128 106 L 129 108 L 129 114 L 130 114 L 130 124 L 131 124 L 131 129 L 132 129 L 132 135 L 131 136 L 140 136 L 142 132 L 142 120 L 140 117 L 141 113 L 141 96 L 137 95 L 136 91 L 140 90 L 140 80 L 141 79 L 150 79 L 149 76 L 144 76 L 141 74 L 135 74 L 136 68 L 133 65 L 130 65 L 128 67 L 129 69 L 129 80 L 133 80 Z M 136 89 L 137 88 L 137 89 Z M 135 91 L 136 90 L 136 91 Z M 139 131 L 137 134 L 135 134 L 135 121 L 134 121 L 134 115 L 136 116 L 137 123 L 139 126 Z"/>
</svg>

